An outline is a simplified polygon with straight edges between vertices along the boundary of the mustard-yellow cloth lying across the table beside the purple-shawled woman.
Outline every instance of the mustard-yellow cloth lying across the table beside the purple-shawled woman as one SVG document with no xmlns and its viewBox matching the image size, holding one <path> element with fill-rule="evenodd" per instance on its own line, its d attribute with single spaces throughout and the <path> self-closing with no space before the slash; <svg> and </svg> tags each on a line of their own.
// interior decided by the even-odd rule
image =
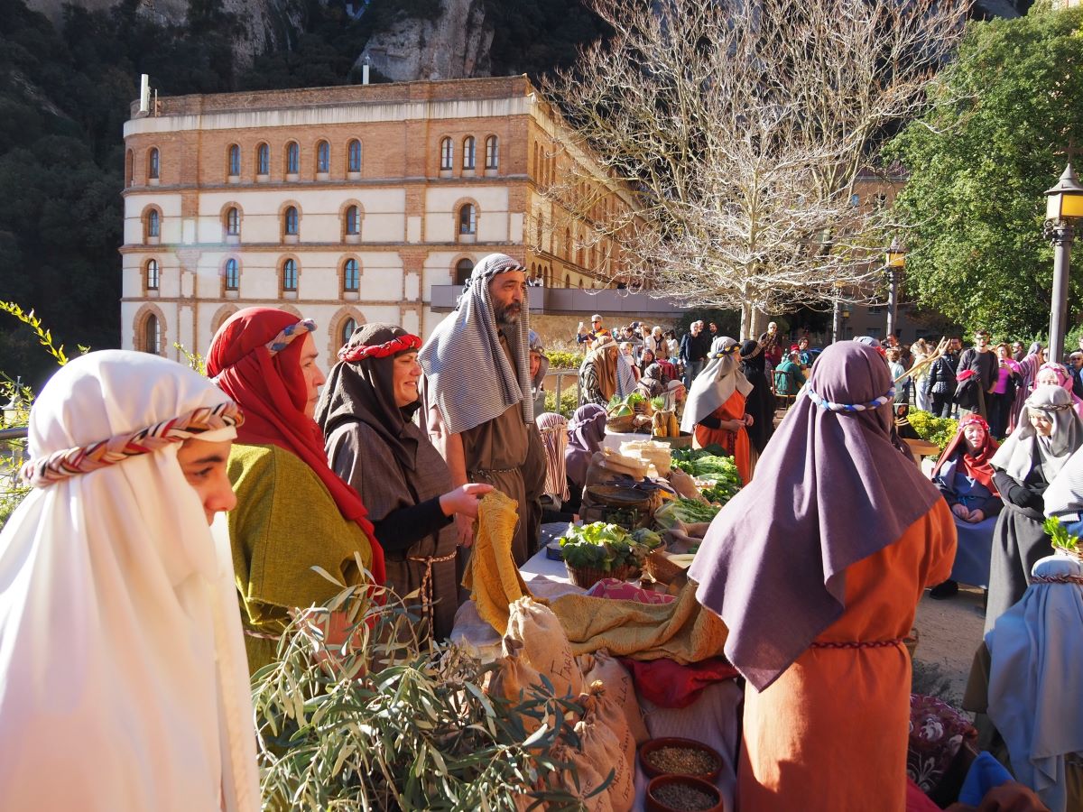
<svg viewBox="0 0 1083 812">
<path fill-rule="evenodd" d="M 549 606 L 576 656 L 608 649 L 635 659 L 668 657 L 682 665 L 722 653 L 729 630 L 695 600 L 689 581 L 673 603 L 639 603 L 569 594 Z"/>
</svg>

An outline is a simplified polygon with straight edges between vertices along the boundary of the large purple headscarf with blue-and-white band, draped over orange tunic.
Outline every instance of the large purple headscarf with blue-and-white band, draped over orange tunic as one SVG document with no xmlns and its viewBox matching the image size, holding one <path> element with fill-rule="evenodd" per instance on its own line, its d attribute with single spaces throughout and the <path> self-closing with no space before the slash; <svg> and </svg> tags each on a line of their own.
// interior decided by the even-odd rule
<svg viewBox="0 0 1083 812">
<path fill-rule="evenodd" d="M 891 445 L 891 404 L 876 350 L 832 344 L 812 367 L 742 490 L 712 522 L 689 571 L 696 599 L 729 627 L 726 656 L 770 685 L 845 607 L 846 568 L 899 539 L 940 498 Z"/>
</svg>

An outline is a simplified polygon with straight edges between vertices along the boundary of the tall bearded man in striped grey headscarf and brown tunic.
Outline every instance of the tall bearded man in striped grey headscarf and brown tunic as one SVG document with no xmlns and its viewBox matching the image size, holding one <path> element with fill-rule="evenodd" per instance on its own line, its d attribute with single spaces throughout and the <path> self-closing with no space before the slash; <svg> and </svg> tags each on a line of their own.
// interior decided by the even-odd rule
<svg viewBox="0 0 1083 812">
<path fill-rule="evenodd" d="M 537 548 L 546 471 L 531 394 L 525 271 L 506 254 L 485 257 L 418 353 L 429 434 L 453 487 L 485 482 L 519 502 L 511 545 L 519 565 Z M 472 520 L 456 523 L 469 547 Z"/>
</svg>

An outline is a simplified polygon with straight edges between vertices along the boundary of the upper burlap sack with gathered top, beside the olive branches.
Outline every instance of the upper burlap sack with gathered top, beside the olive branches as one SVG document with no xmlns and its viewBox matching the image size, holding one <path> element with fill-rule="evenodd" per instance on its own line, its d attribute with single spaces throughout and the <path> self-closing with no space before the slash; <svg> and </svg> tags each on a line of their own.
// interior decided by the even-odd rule
<svg viewBox="0 0 1083 812">
<path fill-rule="evenodd" d="M 526 665 L 552 682 L 557 696 L 583 693 L 583 675 L 572 656 L 567 636 L 552 610 L 531 598 L 520 598 L 508 608 L 504 656 L 518 653 Z M 517 642 L 522 644 L 521 652 L 514 645 Z"/>
</svg>

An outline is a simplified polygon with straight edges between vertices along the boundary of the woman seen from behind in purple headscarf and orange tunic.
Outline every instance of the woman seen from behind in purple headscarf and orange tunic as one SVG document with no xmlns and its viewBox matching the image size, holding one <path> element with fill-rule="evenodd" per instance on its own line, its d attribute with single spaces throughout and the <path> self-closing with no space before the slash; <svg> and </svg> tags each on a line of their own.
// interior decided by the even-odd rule
<svg viewBox="0 0 1083 812">
<path fill-rule="evenodd" d="M 903 638 L 955 525 L 891 444 L 892 396 L 875 350 L 828 346 L 689 572 L 747 680 L 742 809 L 905 809 Z"/>
</svg>

